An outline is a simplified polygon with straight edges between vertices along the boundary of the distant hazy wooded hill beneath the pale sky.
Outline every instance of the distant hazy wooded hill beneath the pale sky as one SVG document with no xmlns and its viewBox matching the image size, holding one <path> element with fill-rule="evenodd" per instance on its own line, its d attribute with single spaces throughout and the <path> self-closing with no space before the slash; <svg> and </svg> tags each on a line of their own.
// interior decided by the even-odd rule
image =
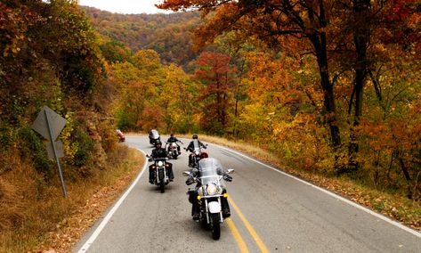
<svg viewBox="0 0 421 253">
<path fill-rule="evenodd" d="M 195 58 L 191 50 L 191 29 L 198 25 L 198 12 L 127 15 L 82 8 L 92 20 L 93 27 L 109 42 L 122 43 L 134 53 L 153 49 L 163 63 L 185 66 Z"/>
</svg>

